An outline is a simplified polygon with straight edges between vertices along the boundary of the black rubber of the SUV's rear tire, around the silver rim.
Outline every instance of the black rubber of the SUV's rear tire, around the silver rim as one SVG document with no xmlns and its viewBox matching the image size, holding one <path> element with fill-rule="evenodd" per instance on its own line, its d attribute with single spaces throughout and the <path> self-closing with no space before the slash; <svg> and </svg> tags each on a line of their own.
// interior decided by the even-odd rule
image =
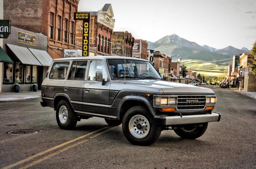
<svg viewBox="0 0 256 169">
<path fill-rule="evenodd" d="M 59 110 L 60 108 L 63 108 L 63 106 L 66 107 L 67 110 L 67 117 L 65 122 L 61 122 L 59 117 Z M 64 118 L 64 117 L 63 117 Z M 64 130 L 70 130 L 73 129 L 77 124 L 77 113 L 73 110 L 71 107 L 71 104 L 67 100 L 61 100 L 57 105 L 56 110 L 56 120 L 59 125 L 59 128 Z"/>
</svg>

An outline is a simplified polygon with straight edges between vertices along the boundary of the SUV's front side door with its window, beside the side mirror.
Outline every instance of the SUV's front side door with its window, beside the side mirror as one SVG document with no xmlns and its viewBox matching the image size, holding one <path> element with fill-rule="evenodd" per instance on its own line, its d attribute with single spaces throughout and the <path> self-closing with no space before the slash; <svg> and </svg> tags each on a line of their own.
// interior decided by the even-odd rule
<svg viewBox="0 0 256 169">
<path fill-rule="evenodd" d="M 110 82 L 102 85 L 96 81 L 96 72 L 102 72 L 102 79 L 107 80 L 107 69 L 104 60 L 90 60 L 88 75 L 83 86 L 83 108 L 85 112 L 109 115 Z"/>
</svg>

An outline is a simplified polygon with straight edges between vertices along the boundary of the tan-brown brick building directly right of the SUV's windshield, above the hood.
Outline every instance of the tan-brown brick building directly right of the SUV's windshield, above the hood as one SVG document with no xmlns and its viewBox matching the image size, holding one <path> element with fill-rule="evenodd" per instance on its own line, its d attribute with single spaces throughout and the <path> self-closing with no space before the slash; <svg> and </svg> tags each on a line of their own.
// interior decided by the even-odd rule
<svg viewBox="0 0 256 169">
<path fill-rule="evenodd" d="M 160 74 L 163 74 L 163 79 L 165 81 L 170 81 L 171 79 L 171 62 L 172 59 L 169 56 L 160 51 L 154 51 L 153 66 Z"/>
</svg>

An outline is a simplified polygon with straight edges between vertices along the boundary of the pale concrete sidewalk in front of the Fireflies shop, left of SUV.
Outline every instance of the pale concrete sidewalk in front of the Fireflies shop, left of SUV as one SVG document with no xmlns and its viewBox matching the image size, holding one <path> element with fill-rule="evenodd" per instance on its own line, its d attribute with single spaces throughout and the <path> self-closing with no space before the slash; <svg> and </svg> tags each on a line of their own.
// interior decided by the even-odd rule
<svg viewBox="0 0 256 169">
<path fill-rule="evenodd" d="M 9 100 L 24 100 L 32 98 L 41 98 L 41 90 L 37 92 L 3 92 L 0 93 L 0 102 Z"/>
</svg>

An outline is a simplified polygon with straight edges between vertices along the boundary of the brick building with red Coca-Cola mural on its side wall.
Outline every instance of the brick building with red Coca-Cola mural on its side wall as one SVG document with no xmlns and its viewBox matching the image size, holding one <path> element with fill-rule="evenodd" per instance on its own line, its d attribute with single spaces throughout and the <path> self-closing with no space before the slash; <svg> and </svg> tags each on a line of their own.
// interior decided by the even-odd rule
<svg viewBox="0 0 256 169">
<path fill-rule="evenodd" d="M 142 39 L 134 39 L 132 57 L 147 60 L 148 43 Z"/>
</svg>

